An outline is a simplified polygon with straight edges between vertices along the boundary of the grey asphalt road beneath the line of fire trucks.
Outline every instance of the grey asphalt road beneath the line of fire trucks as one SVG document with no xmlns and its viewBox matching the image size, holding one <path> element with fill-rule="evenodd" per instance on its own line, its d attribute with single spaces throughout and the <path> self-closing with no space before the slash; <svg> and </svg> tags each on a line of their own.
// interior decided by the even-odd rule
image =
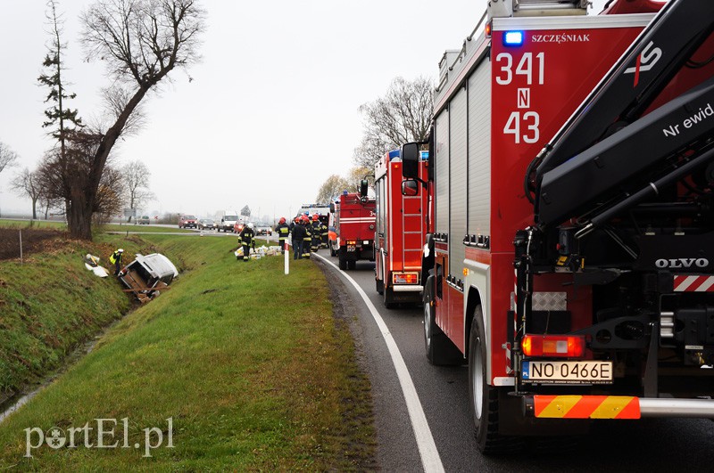
<svg viewBox="0 0 714 473">
<path fill-rule="evenodd" d="M 327 250 L 320 250 L 320 255 L 336 265 L 336 257 L 328 257 Z M 332 266 L 324 267 L 328 274 L 343 273 Z M 416 387 L 445 471 L 714 471 L 714 422 L 699 419 L 602 421 L 594 423 L 589 434 L 574 440 L 533 440 L 520 453 L 482 456 L 469 418 L 466 367 L 428 363 L 421 308 L 387 310 L 375 290 L 374 264 L 358 262 L 355 270 L 345 273 L 358 282 L 386 322 Z M 347 298 L 352 299 L 357 320 L 353 332 L 372 383 L 378 464 L 385 471 L 423 471 L 385 338 L 345 277 L 328 280 L 344 285 Z"/>
</svg>

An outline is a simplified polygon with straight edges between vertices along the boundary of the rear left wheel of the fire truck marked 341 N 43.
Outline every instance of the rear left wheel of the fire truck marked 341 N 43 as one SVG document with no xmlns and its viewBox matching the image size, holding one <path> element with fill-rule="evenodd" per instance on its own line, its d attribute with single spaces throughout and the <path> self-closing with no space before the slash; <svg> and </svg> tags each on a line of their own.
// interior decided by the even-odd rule
<svg viewBox="0 0 714 473">
<path fill-rule="evenodd" d="M 519 438 L 498 433 L 498 389 L 487 382 L 483 321 L 481 306 L 477 306 L 469 333 L 469 408 L 478 450 L 481 453 L 506 453 L 519 444 Z"/>
</svg>

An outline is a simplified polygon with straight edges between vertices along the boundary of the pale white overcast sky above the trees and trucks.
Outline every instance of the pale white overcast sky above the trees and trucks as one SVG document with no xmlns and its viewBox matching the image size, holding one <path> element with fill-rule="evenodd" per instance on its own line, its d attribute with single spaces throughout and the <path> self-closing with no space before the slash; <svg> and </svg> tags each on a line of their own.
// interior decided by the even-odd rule
<svg viewBox="0 0 714 473">
<path fill-rule="evenodd" d="M 394 77 L 436 79 L 444 50 L 458 49 L 486 0 L 203 0 L 203 61 L 171 73 L 145 103 L 146 125 L 115 148 L 117 166 L 141 159 L 156 200 L 145 213 L 213 216 L 248 205 L 286 216 L 312 202 L 329 175 L 346 175 L 361 141 L 359 107 Z M 595 0 L 593 12 L 605 0 Z M 82 61 L 79 13 L 60 0 L 71 107 L 101 113 L 102 65 Z M 0 173 L 0 214 L 29 214 L 8 182 L 52 146 L 46 87 L 37 85 L 49 39 L 43 0 L 0 2 L 0 141 L 20 155 Z"/>
</svg>

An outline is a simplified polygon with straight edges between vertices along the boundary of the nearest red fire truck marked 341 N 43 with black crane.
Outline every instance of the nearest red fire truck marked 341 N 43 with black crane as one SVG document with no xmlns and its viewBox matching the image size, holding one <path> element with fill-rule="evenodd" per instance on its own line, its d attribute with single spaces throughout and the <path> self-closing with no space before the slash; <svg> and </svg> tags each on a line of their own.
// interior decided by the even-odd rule
<svg viewBox="0 0 714 473">
<path fill-rule="evenodd" d="M 441 61 L 428 179 L 402 150 L 428 359 L 469 364 L 484 453 L 714 418 L 714 2 L 585 4 L 491 2 Z"/>
</svg>

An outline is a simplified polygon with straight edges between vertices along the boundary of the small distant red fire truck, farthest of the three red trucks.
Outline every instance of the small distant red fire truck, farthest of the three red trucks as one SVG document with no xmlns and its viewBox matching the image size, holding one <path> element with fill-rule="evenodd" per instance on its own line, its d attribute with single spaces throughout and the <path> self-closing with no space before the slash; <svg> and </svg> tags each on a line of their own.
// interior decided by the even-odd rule
<svg viewBox="0 0 714 473">
<path fill-rule="evenodd" d="M 354 269 L 361 259 L 374 261 L 375 200 L 367 196 L 367 181 L 361 182 L 360 192 L 340 195 L 333 208 L 340 269 Z"/>
</svg>

